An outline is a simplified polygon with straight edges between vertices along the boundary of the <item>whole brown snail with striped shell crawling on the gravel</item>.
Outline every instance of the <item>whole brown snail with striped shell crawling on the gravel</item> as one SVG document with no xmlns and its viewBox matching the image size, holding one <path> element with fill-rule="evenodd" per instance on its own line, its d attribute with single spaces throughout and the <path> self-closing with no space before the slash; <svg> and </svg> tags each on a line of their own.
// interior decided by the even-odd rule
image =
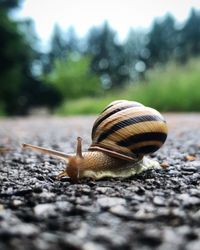
<svg viewBox="0 0 200 250">
<path fill-rule="evenodd" d="M 65 154 L 31 144 L 22 144 L 67 163 L 58 178 L 69 176 L 77 181 L 84 177 L 130 177 L 147 169 L 158 168 L 157 161 L 146 155 L 157 151 L 167 138 L 167 124 L 155 109 L 139 102 L 111 102 L 99 115 L 92 128 L 92 144 L 82 152 L 82 139 L 77 138 L 76 154 Z"/>
</svg>

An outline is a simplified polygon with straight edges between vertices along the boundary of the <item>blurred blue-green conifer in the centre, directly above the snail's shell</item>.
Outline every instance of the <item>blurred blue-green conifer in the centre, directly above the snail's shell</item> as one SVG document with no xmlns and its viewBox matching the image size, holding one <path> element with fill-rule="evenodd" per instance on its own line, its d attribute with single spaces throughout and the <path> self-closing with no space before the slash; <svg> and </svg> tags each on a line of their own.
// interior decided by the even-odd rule
<svg viewBox="0 0 200 250">
<path fill-rule="evenodd" d="M 103 87 L 123 84 L 128 77 L 123 46 L 107 22 L 101 28 L 90 30 L 87 48 L 87 52 L 92 55 L 92 70 L 101 76 Z"/>
</svg>

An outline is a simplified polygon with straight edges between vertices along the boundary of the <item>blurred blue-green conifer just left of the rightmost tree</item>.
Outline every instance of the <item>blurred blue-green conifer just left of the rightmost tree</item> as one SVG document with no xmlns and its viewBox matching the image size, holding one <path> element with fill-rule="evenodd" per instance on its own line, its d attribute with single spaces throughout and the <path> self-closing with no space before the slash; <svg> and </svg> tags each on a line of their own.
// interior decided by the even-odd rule
<svg viewBox="0 0 200 250">
<path fill-rule="evenodd" d="M 168 14 L 162 21 L 156 19 L 148 34 L 148 39 L 149 66 L 153 66 L 157 62 L 166 63 L 172 59 L 177 47 L 177 31 L 174 18 Z"/>
</svg>

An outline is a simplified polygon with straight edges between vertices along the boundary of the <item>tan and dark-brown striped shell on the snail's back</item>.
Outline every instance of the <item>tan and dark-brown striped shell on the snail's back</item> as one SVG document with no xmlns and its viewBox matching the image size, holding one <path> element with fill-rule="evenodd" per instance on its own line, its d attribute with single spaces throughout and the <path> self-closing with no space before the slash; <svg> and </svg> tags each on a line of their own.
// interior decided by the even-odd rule
<svg viewBox="0 0 200 250">
<path fill-rule="evenodd" d="M 110 103 L 95 121 L 89 150 L 135 161 L 158 150 L 166 137 L 167 125 L 158 111 L 119 100 Z"/>
</svg>

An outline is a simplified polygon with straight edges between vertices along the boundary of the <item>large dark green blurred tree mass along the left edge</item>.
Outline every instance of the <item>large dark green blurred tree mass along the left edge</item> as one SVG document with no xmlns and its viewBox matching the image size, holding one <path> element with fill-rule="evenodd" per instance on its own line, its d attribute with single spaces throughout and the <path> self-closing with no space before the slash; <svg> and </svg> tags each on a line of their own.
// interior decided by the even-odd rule
<svg viewBox="0 0 200 250">
<path fill-rule="evenodd" d="M 56 105 L 58 102 L 58 98 L 48 99 L 52 97 L 53 89 L 42 85 L 34 75 L 38 53 L 33 45 L 36 37 L 28 35 L 32 23 L 11 19 L 10 11 L 20 3 L 20 0 L 0 1 L 0 107 L 9 115 L 26 114 L 33 104 L 48 105 L 51 102 L 52 105 L 55 100 Z M 44 92 L 51 96 L 45 98 Z"/>
</svg>

